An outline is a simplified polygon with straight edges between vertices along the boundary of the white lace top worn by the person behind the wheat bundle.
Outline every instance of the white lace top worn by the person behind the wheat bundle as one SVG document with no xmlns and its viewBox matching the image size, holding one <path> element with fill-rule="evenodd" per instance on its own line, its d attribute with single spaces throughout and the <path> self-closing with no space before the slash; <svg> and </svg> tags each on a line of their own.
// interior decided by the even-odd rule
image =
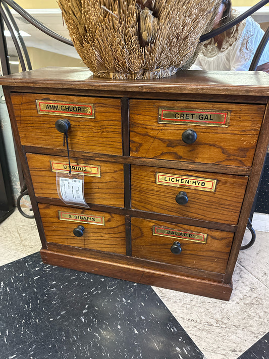
<svg viewBox="0 0 269 359">
<path fill-rule="evenodd" d="M 233 10 L 233 17 L 238 16 Z M 225 32 L 222 48 L 214 38 L 203 42 L 196 62 L 190 70 L 248 71 L 264 31 L 251 17 Z M 269 62 L 269 42 L 263 50 L 259 65 Z"/>
</svg>

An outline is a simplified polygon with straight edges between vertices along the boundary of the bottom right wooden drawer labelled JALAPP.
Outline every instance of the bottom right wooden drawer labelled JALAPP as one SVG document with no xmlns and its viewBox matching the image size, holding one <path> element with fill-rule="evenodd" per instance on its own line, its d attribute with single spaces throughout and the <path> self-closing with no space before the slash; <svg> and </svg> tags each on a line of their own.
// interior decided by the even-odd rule
<svg viewBox="0 0 269 359">
<path fill-rule="evenodd" d="M 230 232 L 132 218 L 132 255 L 150 261 L 225 273 L 233 236 L 234 233 Z M 180 254 L 171 251 L 175 242 L 180 243 Z M 175 247 L 179 248 L 178 245 Z"/>
</svg>

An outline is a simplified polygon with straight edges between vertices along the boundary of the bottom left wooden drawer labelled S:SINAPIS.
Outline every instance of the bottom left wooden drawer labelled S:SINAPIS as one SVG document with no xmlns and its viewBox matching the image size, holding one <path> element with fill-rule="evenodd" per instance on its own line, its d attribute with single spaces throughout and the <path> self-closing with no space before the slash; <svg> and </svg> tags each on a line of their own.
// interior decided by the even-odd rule
<svg viewBox="0 0 269 359">
<path fill-rule="evenodd" d="M 124 216 L 43 203 L 38 207 L 47 242 L 126 254 Z M 78 226 L 84 227 L 81 237 L 73 233 Z"/>
</svg>

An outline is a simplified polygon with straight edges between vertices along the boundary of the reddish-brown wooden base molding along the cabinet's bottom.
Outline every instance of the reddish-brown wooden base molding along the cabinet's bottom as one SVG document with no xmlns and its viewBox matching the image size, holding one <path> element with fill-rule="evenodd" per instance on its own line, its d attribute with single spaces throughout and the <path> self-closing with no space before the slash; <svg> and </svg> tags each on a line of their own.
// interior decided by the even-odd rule
<svg viewBox="0 0 269 359">
<path fill-rule="evenodd" d="M 176 274 L 166 273 L 140 268 L 135 265 L 116 264 L 109 260 L 96 260 L 78 255 L 69 255 L 41 249 L 43 263 L 74 269 L 82 272 L 99 274 L 107 277 L 128 280 L 131 282 L 153 285 L 166 289 L 178 290 L 190 294 L 205 297 L 229 300 L 232 293 L 232 283 L 217 283 L 208 280 L 184 277 Z"/>
</svg>

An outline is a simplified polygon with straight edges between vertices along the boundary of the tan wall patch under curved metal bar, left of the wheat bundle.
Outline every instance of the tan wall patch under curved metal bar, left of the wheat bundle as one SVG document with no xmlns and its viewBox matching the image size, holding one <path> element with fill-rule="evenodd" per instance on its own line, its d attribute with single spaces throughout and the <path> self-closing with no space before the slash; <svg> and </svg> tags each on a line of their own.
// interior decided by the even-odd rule
<svg viewBox="0 0 269 359">
<path fill-rule="evenodd" d="M 55 54 L 36 47 L 27 47 L 27 50 L 31 59 L 33 70 L 46 66 L 86 67 L 80 59 Z"/>
</svg>

